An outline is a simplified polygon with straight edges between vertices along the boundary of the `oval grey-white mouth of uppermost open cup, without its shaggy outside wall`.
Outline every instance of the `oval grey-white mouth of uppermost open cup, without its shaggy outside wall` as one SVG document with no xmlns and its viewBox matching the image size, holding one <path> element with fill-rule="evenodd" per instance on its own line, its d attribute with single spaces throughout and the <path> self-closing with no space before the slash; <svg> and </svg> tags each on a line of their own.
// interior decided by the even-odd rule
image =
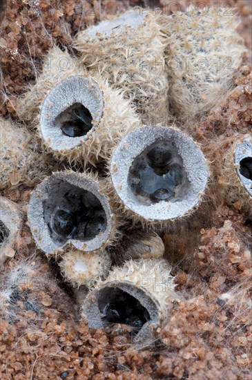
<svg viewBox="0 0 252 380">
<path fill-rule="evenodd" d="M 43 140 L 52 151 L 71 151 L 88 139 L 104 110 L 103 93 L 93 79 L 74 75 L 46 96 L 40 112 Z"/>
</svg>

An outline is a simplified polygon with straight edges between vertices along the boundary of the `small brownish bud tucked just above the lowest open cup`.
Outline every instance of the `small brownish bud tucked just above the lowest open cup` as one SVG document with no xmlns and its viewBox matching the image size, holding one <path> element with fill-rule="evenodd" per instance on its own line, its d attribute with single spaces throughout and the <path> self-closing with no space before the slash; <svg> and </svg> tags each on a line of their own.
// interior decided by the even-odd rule
<svg viewBox="0 0 252 380">
<path fill-rule="evenodd" d="M 155 231 L 128 229 L 122 240 L 109 250 L 113 265 L 122 265 L 126 261 L 138 258 L 161 258 L 164 255 L 164 243 Z"/>
</svg>

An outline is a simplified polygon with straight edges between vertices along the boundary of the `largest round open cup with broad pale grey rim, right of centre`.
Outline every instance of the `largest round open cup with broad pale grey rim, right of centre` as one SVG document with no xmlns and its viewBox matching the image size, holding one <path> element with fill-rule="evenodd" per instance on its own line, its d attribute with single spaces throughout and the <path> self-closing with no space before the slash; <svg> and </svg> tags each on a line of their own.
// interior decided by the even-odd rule
<svg viewBox="0 0 252 380">
<path fill-rule="evenodd" d="M 133 221 L 162 226 L 200 204 L 208 168 L 191 137 L 166 126 L 146 126 L 119 143 L 110 180 L 111 197 Z"/>
</svg>

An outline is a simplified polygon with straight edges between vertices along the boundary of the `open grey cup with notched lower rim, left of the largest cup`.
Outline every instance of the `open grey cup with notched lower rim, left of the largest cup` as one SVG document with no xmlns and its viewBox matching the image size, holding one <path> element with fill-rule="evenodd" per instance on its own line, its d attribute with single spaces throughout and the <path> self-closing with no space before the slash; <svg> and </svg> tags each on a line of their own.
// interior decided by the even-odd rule
<svg viewBox="0 0 252 380">
<path fill-rule="evenodd" d="M 28 205 L 33 238 L 48 255 L 104 249 L 117 238 L 116 222 L 103 180 L 90 173 L 53 173 L 32 191 Z"/>
</svg>

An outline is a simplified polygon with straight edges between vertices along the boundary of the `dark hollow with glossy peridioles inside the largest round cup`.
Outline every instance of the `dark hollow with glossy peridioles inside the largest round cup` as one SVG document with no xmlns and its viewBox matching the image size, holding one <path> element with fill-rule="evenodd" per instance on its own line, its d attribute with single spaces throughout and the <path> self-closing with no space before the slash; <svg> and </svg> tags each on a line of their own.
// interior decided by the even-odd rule
<svg viewBox="0 0 252 380">
<path fill-rule="evenodd" d="M 130 167 L 128 185 L 146 204 L 181 200 L 190 182 L 176 145 L 171 140 L 162 140 L 144 149 Z"/>
</svg>

